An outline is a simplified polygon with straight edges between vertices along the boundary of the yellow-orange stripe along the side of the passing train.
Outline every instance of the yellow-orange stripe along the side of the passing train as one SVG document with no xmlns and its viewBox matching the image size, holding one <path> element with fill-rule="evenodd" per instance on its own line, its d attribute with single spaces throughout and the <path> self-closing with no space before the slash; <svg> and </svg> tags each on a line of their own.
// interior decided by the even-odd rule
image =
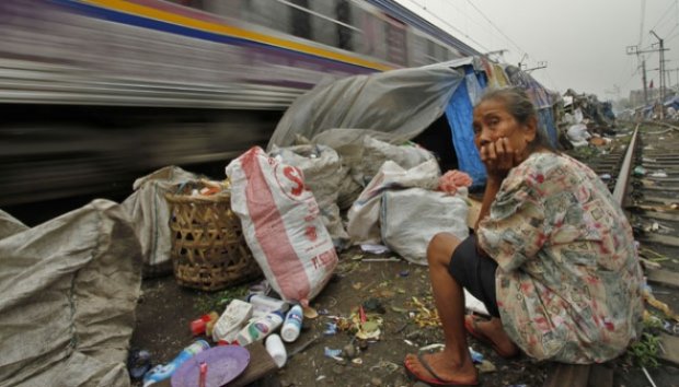
<svg viewBox="0 0 679 387">
<path fill-rule="evenodd" d="M 358 64 L 380 71 L 387 71 L 393 69 L 393 67 L 384 66 L 378 62 L 373 62 L 370 60 L 365 60 L 361 58 L 344 55 L 341 52 L 331 51 L 323 48 L 317 48 L 309 45 L 304 45 L 297 42 L 291 42 L 269 35 L 265 35 L 262 33 L 243 30 L 240 27 L 235 27 L 227 24 L 218 24 L 206 22 L 202 20 L 192 19 L 188 16 L 158 10 L 151 7 L 140 5 L 130 3 L 124 0 L 81 0 L 83 3 L 89 3 L 97 7 L 104 7 L 112 10 L 125 12 L 133 15 L 143 16 L 154 19 L 161 22 L 168 22 L 176 25 L 182 25 L 186 27 L 192 27 L 196 30 L 202 30 L 210 33 L 228 35 L 232 37 L 238 37 L 242 39 L 253 40 L 257 43 L 263 43 L 276 47 L 287 48 L 295 51 L 300 51 L 304 54 L 311 54 L 318 57 L 323 57 L 327 59 L 338 60 L 342 62 L 347 62 L 352 64 Z"/>
</svg>

